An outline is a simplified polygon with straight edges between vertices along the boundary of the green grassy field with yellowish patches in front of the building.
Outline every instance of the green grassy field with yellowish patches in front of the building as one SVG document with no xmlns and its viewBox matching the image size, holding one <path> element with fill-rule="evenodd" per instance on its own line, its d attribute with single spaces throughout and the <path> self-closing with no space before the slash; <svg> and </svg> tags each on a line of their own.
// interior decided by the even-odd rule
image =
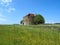
<svg viewBox="0 0 60 45">
<path fill-rule="evenodd" d="M 0 25 L 0 45 L 60 45 L 60 25 Z"/>
</svg>

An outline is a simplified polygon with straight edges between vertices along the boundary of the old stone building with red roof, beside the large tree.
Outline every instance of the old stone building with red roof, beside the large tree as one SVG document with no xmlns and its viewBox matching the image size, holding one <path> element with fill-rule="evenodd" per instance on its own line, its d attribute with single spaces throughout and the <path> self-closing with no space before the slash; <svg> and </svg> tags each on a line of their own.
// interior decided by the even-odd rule
<svg viewBox="0 0 60 45">
<path fill-rule="evenodd" d="M 23 25 L 33 25 L 34 14 L 28 14 L 23 17 Z"/>
</svg>

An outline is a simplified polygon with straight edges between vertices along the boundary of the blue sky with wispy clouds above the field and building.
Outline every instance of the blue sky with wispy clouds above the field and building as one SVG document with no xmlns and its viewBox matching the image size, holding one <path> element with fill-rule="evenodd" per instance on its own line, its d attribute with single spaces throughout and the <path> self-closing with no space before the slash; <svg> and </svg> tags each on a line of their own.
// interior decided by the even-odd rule
<svg viewBox="0 0 60 45">
<path fill-rule="evenodd" d="M 45 23 L 60 23 L 60 0 L 0 0 L 0 24 L 19 24 L 28 13 L 41 14 Z"/>
</svg>

